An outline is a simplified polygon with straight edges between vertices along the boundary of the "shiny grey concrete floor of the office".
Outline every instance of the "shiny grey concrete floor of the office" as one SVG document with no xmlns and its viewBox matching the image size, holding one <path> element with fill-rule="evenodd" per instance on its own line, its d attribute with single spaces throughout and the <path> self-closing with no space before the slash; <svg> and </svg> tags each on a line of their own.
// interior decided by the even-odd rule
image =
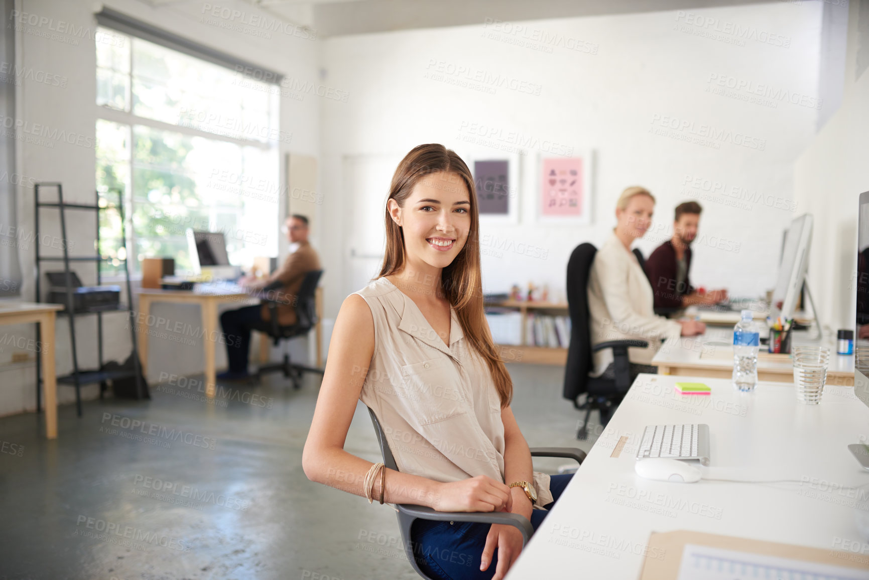
<svg viewBox="0 0 869 580">
<path fill-rule="evenodd" d="M 591 448 L 561 368 L 507 368 L 529 445 Z M 91 401 L 81 418 L 63 406 L 55 441 L 42 416 L 0 418 L 0 580 L 417 578 L 395 511 L 305 477 L 319 382 L 271 375 L 216 403 L 201 379 L 152 385 L 150 401 Z M 362 405 L 346 449 L 380 457 Z"/>
</svg>

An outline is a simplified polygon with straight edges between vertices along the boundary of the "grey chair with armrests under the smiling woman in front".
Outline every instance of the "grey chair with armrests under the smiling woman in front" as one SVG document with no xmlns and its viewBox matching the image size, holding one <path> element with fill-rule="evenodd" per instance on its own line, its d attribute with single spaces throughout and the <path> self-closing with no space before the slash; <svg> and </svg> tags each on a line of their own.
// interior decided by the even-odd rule
<svg viewBox="0 0 869 580">
<path fill-rule="evenodd" d="M 377 419 L 375 412 L 368 408 L 368 413 L 371 415 L 371 423 L 375 424 L 375 432 L 377 433 L 377 443 L 380 445 L 381 454 L 383 455 L 383 464 L 390 470 L 398 471 L 395 465 L 395 457 L 392 456 L 392 450 L 389 449 L 387 438 L 383 433 L 380 421 Z M 572 447 L 533 447 L 531 449 L 531 457 L 567 457 L 575 459 L 577 463 L 582 464 L 582 460 L 586 458 L 586 452 Z M 426 576 L 420 565 L 416 561 L 417 556 L 414 554 L 415 543 L 413 542 L 410 532 L 417 519 L 431 520 L 435 522 L 475 522 L 475 523 L 500 523 L 502 525 L 512 525 L 522 534 L 522 545 L 528 543 L 528 539 L 534 534 L 534 528 L 531 522 L 519 514 L 511 514 L 503 511 L 486 511 L 486 512 L 457 512 L 457 511 L 435 511 L 423 505 L 411 505 L 409 503 L 396 503 L 395 509 L 398 516 L 398 527 L 401 530 L 401 543 L 404 545 L 404 553 L 410 561 L 410 565 L 414 567 L 416 573 L 426 580 L 431 580 Z M 494 563 L 490 564 L 494 566 Z"/>
</svg>

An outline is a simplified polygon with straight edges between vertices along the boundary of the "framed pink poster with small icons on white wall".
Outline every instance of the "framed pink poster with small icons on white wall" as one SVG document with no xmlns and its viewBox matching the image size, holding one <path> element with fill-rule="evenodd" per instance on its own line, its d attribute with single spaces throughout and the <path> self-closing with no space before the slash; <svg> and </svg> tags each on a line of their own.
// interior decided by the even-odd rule
<svg viewBox="0 0 869 580">
<path fill-rule="evenodd" d="M 541 157 L 541 222 L 591 223 L 591 154 Z"/>
</svg>

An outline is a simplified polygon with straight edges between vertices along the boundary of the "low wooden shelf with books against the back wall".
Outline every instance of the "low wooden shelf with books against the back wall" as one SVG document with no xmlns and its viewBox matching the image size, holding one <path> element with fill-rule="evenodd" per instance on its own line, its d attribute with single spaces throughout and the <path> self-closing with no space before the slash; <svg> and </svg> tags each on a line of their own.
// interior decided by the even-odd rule
<svg viewBox="0 0 869 580">
<path fill-rule="evenodd" d="M 506 363 L 567 362 L 567 303 L 501 300 L 486 303 L 489 328 Z"/>
</svg>

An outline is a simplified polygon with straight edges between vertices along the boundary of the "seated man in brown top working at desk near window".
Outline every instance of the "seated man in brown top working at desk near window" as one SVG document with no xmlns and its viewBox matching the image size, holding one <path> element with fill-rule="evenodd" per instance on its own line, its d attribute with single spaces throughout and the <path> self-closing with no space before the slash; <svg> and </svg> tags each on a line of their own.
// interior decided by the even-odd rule
<svg viewBox="0 0 869 580">
<path fill-rule="evenodd" d="M 243 277 L 239 282 L 251 291 L 273 290 L 277 305 L 277 321 L 281 326 L 295 324 L 295 294 L 302 286 L 302 280 L 311 270 L 320 270 L 320 257 L 308 243 L 308 218 L 293 215 L 287 218 L 282 231 L 287 233 L 290 243 L 290 254 L 281 268 L 272 272 L 271 276 L 262 280 L 255 277 Z M 249 377 L 248 358 L 250 352 L 250 331 L 262 323 L 269 321 L 269 306 L 266 303 L 256 306 L 245 306 L 238 310 L 227 310 L 220 317 L 223 334 L 226 335 L 226 354 L 229 360 L 229 370 L 219 373 L 222 380 L 238 380 Z"/>
</svg>

